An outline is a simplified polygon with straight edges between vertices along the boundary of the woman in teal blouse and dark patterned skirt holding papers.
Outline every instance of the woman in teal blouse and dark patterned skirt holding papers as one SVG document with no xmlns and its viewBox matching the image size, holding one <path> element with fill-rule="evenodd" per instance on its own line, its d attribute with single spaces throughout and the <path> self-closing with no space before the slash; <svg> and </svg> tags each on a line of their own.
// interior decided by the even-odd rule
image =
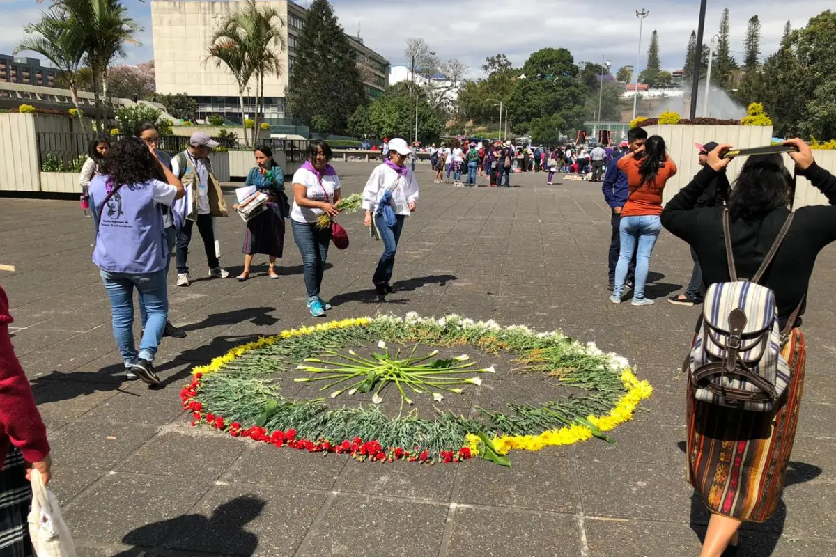
<svg viewBox="0 0 836 557">
<path fill-rule="evenodd" d="M 256 147 L 253 151 L 256 166 L 250 169 L 244 185 L 254 185 L 257 191 L 268 195 L 267 209 L 247 221 L 247 231 L 244 233 L 244 271 L 237 277 L 238 281 L 246 281 L 250 277 L 252 256 L 260 253 L 270 258 L 270 278 L 278 279 L 276 272 L 276 258 L 282 257 L 284 251 L 284 217 L 287 216 L 288 198 L 284 194 L 284 172 L 282 167 L 273 160 L 273 151 L 267 145 Z M 238 205 L 232 205 L 237 209 Z"/>
</svg>

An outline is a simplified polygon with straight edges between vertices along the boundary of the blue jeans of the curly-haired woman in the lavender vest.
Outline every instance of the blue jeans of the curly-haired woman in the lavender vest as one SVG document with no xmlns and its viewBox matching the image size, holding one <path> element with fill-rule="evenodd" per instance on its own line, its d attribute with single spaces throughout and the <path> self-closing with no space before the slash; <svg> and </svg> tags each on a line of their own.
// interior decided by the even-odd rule
<svg viewBox="0 0 836 557">
<path fill-rule="evenodd" d="M 113 336 L 125 364 L 133 364 L 140 358 L 153 362 L 168 317 L 166 272 L 132 275 L 99 271 L 99 275 L 110 298 Z M 147 315 L 140 352 L 136 352 L 134 343 L 134 288 L 139 292 L 140 310 Z"/>
</svg>

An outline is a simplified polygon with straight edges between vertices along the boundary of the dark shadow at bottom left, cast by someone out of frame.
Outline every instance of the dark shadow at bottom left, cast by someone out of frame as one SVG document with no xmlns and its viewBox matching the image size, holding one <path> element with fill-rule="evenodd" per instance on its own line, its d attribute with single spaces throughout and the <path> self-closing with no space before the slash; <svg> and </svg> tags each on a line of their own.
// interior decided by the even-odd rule
<svg viewBox="0 0 836 557">
<path fill-rule="evenodd" d="M 115 557 L 151 557 L 164 548 L 199 554 L 255 554 L 258 536 L 244 527 L 257 519 L 265 504 L 254 495 L 243 495 L 222 504 L 208 519 L 201 514 L 182 514 L 146 524 L 125 534 L 122 543 L 134 547 Z"/>
</svg>

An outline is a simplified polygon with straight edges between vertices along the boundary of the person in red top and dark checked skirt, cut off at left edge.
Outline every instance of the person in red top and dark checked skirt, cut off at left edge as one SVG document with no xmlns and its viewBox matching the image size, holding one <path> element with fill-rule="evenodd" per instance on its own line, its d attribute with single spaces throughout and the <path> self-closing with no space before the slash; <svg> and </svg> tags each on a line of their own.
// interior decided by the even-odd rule
<svg viewBox="0 0 836 557">
<path fill-rule="evenodd" d="M 52 462 L 46 428 L 8 335 L 12 321 L 0 288 L 0 557 L 30 557 L 28 468 L 37 468 L 46 483 Z"/>
</svg>

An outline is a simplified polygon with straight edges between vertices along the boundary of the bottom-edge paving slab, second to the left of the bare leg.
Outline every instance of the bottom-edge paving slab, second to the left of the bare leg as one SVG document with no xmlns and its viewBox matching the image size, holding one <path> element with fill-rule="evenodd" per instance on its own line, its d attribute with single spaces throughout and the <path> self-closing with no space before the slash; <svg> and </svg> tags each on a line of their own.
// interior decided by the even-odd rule
<svg viewBox="0 0 836 557">
<path fill-rule="evenodd" d="M 579 554 L 579 527 L 573 516 L 461 507 L 453 514 L 450 547 L 444 555 L 576 557 Z"/>
</svg>

